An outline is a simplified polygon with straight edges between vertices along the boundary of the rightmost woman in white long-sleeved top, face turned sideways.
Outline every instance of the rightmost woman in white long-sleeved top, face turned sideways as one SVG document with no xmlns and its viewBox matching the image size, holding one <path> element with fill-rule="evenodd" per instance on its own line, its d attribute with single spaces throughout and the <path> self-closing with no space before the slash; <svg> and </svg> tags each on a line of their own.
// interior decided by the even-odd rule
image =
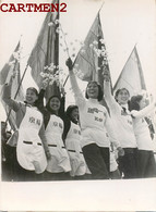
<svg viewBox="0 0 156 212">
<path fill-rule="evenodd" d="M 137 142 L 139 177 L 156 177 L 156 162 L 154 158 L 154 140 L 145 117 L 155 109 L 156 103 L 146 105 L 142 95 L 133 96 L 130 101 L 130 111 L 133 117 L 133 128 Z"/>
</svg>

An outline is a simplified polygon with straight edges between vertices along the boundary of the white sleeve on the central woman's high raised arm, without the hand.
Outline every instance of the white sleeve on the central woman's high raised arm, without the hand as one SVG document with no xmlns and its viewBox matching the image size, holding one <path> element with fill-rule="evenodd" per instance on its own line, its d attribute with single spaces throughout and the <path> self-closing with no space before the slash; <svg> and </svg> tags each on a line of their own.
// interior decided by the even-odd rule
<svg viewBox="0 0 156 212">
<path fill-rule="evenodd" d="M 75 102 L 80 108 L 83 108 L 85 104 L 85 98 L 83 97 L 82 91 L 80 90 L 73 71 L 70 71 L 70 82 L 71 82 L 72 90 L 74 92 Z"/>
</svg>

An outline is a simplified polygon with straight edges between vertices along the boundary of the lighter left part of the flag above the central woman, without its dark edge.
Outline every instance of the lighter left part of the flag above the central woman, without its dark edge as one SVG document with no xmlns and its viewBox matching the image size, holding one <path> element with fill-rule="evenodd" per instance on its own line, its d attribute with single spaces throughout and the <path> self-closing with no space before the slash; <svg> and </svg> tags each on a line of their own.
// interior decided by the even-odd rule
<svg viewBox="0 0 156 212">
<path fill-rule="evenodd" d="M 84 40 L 83 47 L 80 49 L 77 57 L 74 61 L 74 72 L 82 80 L 89 82 L 97 80 L 98 71 L 98 45 L 99 40 L 104 38 L 99 12 Z"/>
</svg>

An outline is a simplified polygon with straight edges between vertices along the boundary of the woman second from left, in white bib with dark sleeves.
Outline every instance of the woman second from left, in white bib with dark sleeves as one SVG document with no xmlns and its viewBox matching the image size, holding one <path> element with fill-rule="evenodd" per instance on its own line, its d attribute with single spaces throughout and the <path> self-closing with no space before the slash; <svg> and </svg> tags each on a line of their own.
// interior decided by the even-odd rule
<svg viewBox="0 0 156 212">
<path fill-rule="evenodd" d="M 43 86 L 46 90 L 46 86 Z M 39 102 L 44 100 L 45 91 L 40 90 Z M 43 92 L 44 91 L 44 92 Z M 44 114 L 45 132 L 50 150 L 50 159 L 44 173 L 45 180 L 65 180 L 70 179 L 70 159 L 63 142 L 64 130 L 64 97 L 61 97 L 60 90 L 55 83 L 45 108 L 40 108 Z M 43 99 L 41 99 L 43 98 Z M 43 103 L 41 103 L 43 104 Z"/>
</svg>

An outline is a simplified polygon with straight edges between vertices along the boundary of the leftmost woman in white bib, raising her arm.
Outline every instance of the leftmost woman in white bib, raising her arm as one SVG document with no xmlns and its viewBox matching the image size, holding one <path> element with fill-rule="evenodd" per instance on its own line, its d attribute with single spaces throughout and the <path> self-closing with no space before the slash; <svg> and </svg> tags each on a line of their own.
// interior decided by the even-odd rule
<svg viewBox="0 0 156 212">
<path fill-rule="evenodd" d="M 50 158 L 50 154 L 43 114 L 37 109 L 38 92 L 29 87 L 24 103 L 11 99 L 13 78 L 4 85 L 2 99 L 16 113 L 17 129 L 9 140 L 10 146 L 16 146 L 15 180 L 39 180 L 39 174 L 47 167 L 46 155 Z"/>
</svg>

